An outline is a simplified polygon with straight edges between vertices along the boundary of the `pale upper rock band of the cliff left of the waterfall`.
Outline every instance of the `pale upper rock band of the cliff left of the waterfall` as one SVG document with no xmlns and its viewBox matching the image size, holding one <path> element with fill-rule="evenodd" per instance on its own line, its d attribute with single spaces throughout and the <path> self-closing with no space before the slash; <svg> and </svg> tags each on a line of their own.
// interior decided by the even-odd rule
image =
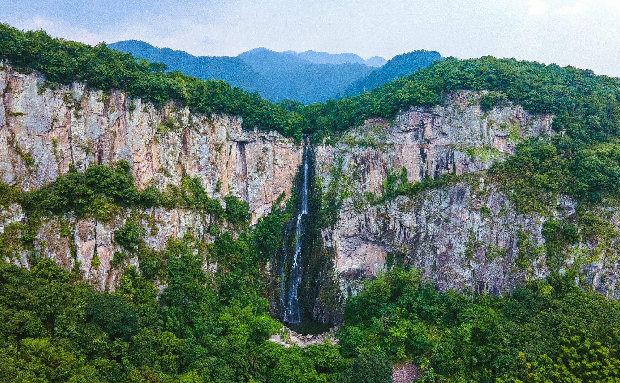
<svg viewBox="0 0 620 383">
<path fill-rule="evenodd" d="M 249 202 L 256 219 L 290 195 L 301 161 L 292 139 L 244 130 L 239 117 L 190 115 L 174 102 L 156 108 L 82 83 L 51 89 L 44 77 L 10 68 L 0 71 L 0 87 L 0 180 L 22 190 L 55 180 L 69 164 L 125 159 L 139 190 L 197 176 L 211 198 Z"/>
</svg>

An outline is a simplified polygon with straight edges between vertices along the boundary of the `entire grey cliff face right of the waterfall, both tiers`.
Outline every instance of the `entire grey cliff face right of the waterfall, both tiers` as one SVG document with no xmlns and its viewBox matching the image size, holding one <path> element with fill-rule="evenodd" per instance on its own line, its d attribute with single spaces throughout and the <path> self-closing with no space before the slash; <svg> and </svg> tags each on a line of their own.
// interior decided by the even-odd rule
<svg viewBox="0 0 620 383">
<path fill-rule="evenodd" d="M 514 105 L 483 112 L 479 97 L 458 92 L 443 107 L 410 108 L 395 121 L 369 120 L 350 133 L 352 138 L 317 147 L 317 164 L 323 164 L 318 165 L 319 182 L 342 200 L 333 224 L 322 230 L 333 260 L 325 296 L 339 299 L 332 306 L 358 293 L 363 280 L 396 265 L 423 270 L 424 278 L 442 291 L 490 294 L 512 291 L 528 278 L 549 273 L 541 250 L 542 225 L 547 219 L 575 222 L 577 203 L 570 198 L 558 198 L 552 216 L 523 216 L 480 174 L 453 187 L 373 204 L 389 187 L 389 172 L 399 179 L 405 167 L 409 182 L 477 172 L 512 154 L 523 137 L 554 134 L 552 116 L 530 115 Z M 618 229 L 614 209 L 598 214 Z M 613 244 L 593 237 L 568 252 L 571 257 L 563 265 L 578 262 L 583 284 L 618 296 Z"/>
</svg>

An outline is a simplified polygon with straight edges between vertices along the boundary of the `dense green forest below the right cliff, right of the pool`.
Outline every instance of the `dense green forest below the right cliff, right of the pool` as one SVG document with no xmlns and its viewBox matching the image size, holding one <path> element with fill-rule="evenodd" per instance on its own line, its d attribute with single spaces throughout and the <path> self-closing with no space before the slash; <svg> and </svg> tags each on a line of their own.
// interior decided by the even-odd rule
<svg viewBox="0 0 620 383">
<path fill-rule="evenodd" d="M 577 288 L 576 275 L 472 298 L 397 268 L 348 299 L 342 353 L 413 358 L 421 383 L 618 382 L 620 304 Z"/>
</svg>

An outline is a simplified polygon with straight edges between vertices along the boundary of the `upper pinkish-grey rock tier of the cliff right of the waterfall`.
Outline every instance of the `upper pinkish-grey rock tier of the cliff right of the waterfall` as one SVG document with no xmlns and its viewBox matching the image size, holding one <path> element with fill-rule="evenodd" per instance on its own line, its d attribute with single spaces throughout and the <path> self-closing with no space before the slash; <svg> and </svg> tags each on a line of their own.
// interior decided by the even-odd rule
<svg viewBox="0 0 620 383">
<path fill-rule="evenodd" d="M 477 172 L 513 154 L 524 137 L 554 134 L 550 115 L 531 115 L 510 103 L 483 112 L 482 93 L 463 90 L 448 95 L 445 105 L 410 107 L 394 121 L 368 120 L 337 143 L 319 146 L 317 164 L 327 172 L 335 159 L 344 159 L 345 173 L 359 172 L 361 187 L 381 195 L 388 170 L 405 167 L 410 182 Z"/>
</svg>

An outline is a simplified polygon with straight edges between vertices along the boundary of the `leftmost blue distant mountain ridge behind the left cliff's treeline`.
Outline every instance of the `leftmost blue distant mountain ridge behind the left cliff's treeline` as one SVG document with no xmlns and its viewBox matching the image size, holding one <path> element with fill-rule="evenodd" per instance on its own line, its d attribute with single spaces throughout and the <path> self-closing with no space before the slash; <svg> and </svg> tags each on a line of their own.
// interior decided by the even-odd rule
<svg viewBox="0 0 620 383">
<path fill-rule="evenodd" d="M 270 94 L 270 86 L 265 77 L 238 57 L 193 56 L 185 51 L 157 48 L 138 40 L 125 40 L 108 46 L 125 53 L 131 52 L 135 57 L 164 63 L 170 71 L 181 71 L 205 80 L 224 80 L 231 86 L 240 87 L 248 92 L 258 90 L 265 96 Z"/>
</svg>

